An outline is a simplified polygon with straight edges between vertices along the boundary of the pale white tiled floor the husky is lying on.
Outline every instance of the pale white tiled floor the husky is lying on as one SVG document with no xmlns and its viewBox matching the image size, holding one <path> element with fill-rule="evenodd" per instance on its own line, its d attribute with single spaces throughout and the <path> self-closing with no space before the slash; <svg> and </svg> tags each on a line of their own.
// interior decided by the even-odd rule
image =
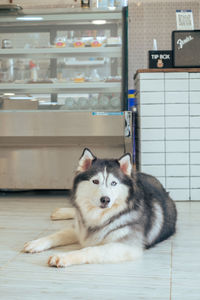
<svg viewBox="0 0 200 300">
<path fill-rule="evenodd" d="M 21 253 L 26 241 L 65 227 L 51 221 L 56 207 L 69 205 L 64 195 L 0 195 L 1 300 L 199 300 L 200 202 L 179 202 L 176 235 L 147 250 L 137 262 L 81 265 L 66 269 L 47 266 L 52 253 Z"/>
</svg>

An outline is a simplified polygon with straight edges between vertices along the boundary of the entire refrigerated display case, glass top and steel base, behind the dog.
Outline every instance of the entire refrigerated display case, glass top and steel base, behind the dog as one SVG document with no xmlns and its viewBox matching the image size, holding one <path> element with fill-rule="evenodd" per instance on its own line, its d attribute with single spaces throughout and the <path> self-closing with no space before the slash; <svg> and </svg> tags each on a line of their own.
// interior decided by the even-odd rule
<svg viewBox="0 0 200 300">
<path fill-rule="evenodd" d="M 131 147 L 127 10 L 0 15 L 0 189 L 70 188 L 84 147 Z"/>
</svg>

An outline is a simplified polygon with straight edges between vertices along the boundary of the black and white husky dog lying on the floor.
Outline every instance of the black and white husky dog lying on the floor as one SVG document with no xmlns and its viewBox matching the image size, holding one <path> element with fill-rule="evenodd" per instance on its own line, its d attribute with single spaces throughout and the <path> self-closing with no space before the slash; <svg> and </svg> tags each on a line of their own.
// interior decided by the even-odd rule
<svg viewBox="0 0 200 300">
<path fill-rule="evenodd" d="M 26 243 L 24 252 L 78 242 L 81 250 L 53 255 L 48 264 L 117 263 L 137 259 L 175 232 L 174 202 L 155 177 L 133 172 L 130 154 L 98 159 L 84 149 L 71 200 L 74 208 L 58 209 L 52 218 L 75 218 L 74 228 Z"/>
</svg>

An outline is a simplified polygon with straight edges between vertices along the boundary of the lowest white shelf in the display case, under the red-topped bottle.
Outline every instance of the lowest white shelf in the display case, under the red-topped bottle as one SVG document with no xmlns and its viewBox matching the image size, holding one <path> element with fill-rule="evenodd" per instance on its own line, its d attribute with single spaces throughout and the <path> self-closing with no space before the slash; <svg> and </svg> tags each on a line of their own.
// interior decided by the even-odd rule
<svg viewBox="0 0 200 300">
<path fill-rule="evenodd" d="M 77 92 L 121 92 L 121 82 L 83 82 L 83 83 L 1 83 L 0 92 L 16 93 L 77 93 Z"/>
</svg>

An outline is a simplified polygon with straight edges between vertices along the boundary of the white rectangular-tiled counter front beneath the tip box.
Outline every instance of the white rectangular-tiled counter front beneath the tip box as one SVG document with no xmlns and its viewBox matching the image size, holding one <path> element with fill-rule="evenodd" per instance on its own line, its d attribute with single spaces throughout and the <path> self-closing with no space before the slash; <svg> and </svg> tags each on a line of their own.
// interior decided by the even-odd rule
<svg viewBox="0 0 200 300">
<path fill-rule="evenodd" d="M 141 73 L 139 168 L 174 200 L 200 199 L 200 73 Z"/>
</svg>

